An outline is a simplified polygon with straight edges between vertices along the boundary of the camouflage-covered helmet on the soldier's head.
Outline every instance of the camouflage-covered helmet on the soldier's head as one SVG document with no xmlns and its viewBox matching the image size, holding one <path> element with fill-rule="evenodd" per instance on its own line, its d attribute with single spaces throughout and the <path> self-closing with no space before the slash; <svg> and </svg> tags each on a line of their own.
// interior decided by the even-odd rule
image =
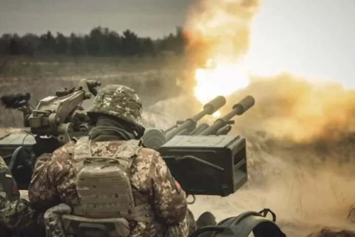
<svg viewBox="0 0 355 237">
<path fill-rule="evenodd" d="M 98 91 L 88 115 L 107 114 L 143 127 L 142 103 L 132 88 L 123 85 L 108 85 Z"/>
</svg>

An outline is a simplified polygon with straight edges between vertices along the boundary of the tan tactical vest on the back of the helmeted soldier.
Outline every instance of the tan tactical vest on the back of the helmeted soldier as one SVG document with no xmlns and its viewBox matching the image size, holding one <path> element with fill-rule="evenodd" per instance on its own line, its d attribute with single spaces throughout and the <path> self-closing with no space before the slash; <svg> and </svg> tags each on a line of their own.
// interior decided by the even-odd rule
<svg viewBox="0 0 355 237">
<path fill-rule="evenodd" d="M 76 187 L 81 206 L 74 214 L 88 218 L 123 217 L 151 222 L 151 204 L 135 205 L 130 183 L 130 166 L 141 146 L 139 141 L 123 143 L 112 157 L 92 156 L 89 137 L 79 139 L 74 149 L 78 168 Z"/>
</svg>

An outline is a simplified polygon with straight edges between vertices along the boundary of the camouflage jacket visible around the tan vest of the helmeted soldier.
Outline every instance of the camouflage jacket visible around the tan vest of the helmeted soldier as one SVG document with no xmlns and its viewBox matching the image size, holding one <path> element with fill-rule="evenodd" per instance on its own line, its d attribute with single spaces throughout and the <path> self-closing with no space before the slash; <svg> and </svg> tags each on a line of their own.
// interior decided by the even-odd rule
<svg viewBox="0 0 355 237">
<path fill-rule="evenodd" d="M 92 142 L 92 155 L 112 156 L 122 143 Z M 45 211 L 60 203 L 69 206 L 80 204 L 75 185 L 74 146 L 74 142 L 69 142 L 52 155 L 44 154 L 38 158 L 28 190 L 34 209 Z M 148 148 L 139 151 L 130 167 L 130 181 L 136 204 L 149 201 L 156 215 L 156 220 L 151 224 L 130 223 L 130 236 L 152 236 L 156 233 L 161 236 L 159 233 L 165 232 L 167 226 L 181 226 L 184 222 L 183 227 L 188 228 L 186 194 L 172 179 L 158 152 Z"/>
</svg>

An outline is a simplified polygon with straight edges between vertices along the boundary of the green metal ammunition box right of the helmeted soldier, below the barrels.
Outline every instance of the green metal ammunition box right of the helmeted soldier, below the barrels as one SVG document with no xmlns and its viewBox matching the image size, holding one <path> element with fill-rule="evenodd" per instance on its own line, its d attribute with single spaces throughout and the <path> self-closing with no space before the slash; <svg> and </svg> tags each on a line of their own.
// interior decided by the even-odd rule
<svg viewBox="0 0 355 237">
<path fill-rule="evenodd" d="M 247 181 L 240 136 L 175 136 L 158 151 L 187 194 L 228 196 Z"/>
</svg>

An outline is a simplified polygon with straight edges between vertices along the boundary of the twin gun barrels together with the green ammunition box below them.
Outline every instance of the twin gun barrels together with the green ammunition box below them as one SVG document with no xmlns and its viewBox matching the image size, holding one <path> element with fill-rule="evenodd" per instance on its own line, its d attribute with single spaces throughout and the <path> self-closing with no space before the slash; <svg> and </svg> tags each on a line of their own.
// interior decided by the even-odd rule
<svg viewBox="0 0 355 237">
<path fill-rule="evenodd" d="M 160 152 L 172 176 L 189 195 L 228 196 L 247 181 L 245 139 L 227 134 L 234 123 L 231 119 L 253 107 L 254 98 L 244 97 L 212 125 L 197 126 L 203 116 L 214 114 L 225 103 L 226 99 L 218 96 L 184 122 L 165 131 L 149 129 L 143 136 L 145 146 Z"/>
</svg>

